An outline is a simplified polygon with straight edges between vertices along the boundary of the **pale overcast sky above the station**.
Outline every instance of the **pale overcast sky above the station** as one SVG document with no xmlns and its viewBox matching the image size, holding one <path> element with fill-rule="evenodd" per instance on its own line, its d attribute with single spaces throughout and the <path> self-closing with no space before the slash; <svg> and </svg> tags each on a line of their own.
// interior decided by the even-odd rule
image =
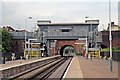
<svg viewBox="0 0 120 80">
<path fill-rule="evenodd" d="M 0 24 L 31 31 L 36 20 L 52 23 L 81 23 L 88 16 L 100 20 L 99 30 L 109 22 L 109 0 L 2 0 Z M 118 1 L 111 0 L 111 18 L 118 24 Z M 32 20 L 28 17 L 32 16 Z"/>
</svg>

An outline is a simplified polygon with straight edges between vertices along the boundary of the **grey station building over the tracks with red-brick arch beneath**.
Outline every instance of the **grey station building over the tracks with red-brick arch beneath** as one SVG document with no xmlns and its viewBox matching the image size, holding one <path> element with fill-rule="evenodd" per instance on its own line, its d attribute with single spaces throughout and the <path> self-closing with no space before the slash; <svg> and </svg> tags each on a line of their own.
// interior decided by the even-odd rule
<svg viewBox="0 0 120 80">
<path fill-rule="evenodd" d="M 92 24 L 92 25 L 91 25 Z M 86 44 L 86 38 L 89 43 L 96 40 L 96 43 L 101 42 L 101 35 L 98 32 L 99 22 L 85 23 L 40 23 L 38 31 L 38 39 L 41 43 L 47 45 L 48 55 L 63 55 L 63 50 L 67 46 L 73 47 L 76 52 L 79 52 Z M 97 36 L 95 36 L 97 33 Z M 92 35 L 92 37 L 91 37 Z M 84 38 L 84 40 L 80 40 Z M 63 49 L 64 48 L 64 49 Z"/>
</svg>

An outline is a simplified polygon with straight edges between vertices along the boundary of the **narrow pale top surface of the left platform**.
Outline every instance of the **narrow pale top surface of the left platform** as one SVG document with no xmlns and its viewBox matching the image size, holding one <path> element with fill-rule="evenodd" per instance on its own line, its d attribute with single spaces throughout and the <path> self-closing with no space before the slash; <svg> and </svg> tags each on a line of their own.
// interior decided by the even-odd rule
<svg viewBox="0 0 120 80">
<path fill-rule="evenodd" d="M 60 56 L 60 55 L 58 55 Z M 52 56 L 52 57 L 57 57 L 57 56 Z M 39 58 L 32 58 L 29 60 L 14 60 L 14 61 L 6 61 L 5 64 L 0 64 L 0 70 L 4 70 L 4 69 L 9 69 L 11 67 L 17 67 L 20 65 L 25 65 L 25 64 L 29 64 L 29 63 L 33 63 L 33 62 L 37 62 L 37 61 L 42 61 L 45 59 L 49 59 L 52 57 L 39 57 Z"/>
</svg>

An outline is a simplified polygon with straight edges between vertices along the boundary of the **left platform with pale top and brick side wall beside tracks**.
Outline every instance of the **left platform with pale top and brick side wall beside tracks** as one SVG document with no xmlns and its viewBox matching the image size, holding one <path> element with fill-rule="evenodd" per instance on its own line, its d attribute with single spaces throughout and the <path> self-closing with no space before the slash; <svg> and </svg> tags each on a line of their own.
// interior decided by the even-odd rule
<svg viewBox="0 0 120 80">
<path fill-rule="evenodd" d="M 56 55 L 28 60 L 6 61 L 6 64 L 0 64 L 0 79 L 9 78 L 10 76 L 31 70 L 40 64 L 46 63 L 50 60 L 59 59 L 60 57 L 60 55 Z"/>
</svg>

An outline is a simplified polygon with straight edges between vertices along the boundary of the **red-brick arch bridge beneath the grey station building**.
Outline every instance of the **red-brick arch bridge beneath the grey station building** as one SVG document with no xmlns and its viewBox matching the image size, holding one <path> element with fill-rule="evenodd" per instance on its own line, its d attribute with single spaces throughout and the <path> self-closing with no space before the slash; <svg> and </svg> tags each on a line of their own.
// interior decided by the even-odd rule
<svg viewBox="0 0 120 80">
<path fill-rule="evenodd" d="M 76 52 L 79 53 L 80 51 L 83 50 L 82 49 L 83 47 L 81 47 L 81 44 L 76 44 L 76 43 L 83 43 L 85 45 L 85 41 L 81 41 L 81 40 L 57 40 L 55 43 L 55 47 L 51 48 L 51 55 L 56 55 L 56 54 L 63 55 L 63 50 L 68 46 L 73 47 L 76 50 Z"/>
</svg>

